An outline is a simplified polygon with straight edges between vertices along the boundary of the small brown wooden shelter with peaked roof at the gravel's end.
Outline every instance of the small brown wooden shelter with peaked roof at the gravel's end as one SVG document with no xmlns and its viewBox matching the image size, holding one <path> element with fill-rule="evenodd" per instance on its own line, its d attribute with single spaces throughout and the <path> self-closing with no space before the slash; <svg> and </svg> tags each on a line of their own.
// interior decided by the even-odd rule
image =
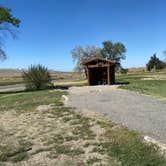
<svg viewBox="0 0 166 166">
<path fill-rule="evenodd" d="M 82 62 L 88 78 L 88 85 L 111 85 L 115 83 L 116 61 L 100 57 Z"/>
</svg>

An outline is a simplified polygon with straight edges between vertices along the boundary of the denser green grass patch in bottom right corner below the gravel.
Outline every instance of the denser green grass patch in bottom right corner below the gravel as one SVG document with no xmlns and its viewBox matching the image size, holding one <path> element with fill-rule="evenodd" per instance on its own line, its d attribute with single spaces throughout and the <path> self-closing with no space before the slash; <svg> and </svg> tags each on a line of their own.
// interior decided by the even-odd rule
<svg viewBox="0 0 166 166">
<path fill-rule="evenodd" d="M 107 128 L 107 141 L 97 143 L 94 152 L 107 153 L 117 158 L 121 164 L 134 166 L 164 166 L 166 159 L 155 145 L 148 145 L 136 132 L 127 129 L 110 130 Z"/>
</svg>

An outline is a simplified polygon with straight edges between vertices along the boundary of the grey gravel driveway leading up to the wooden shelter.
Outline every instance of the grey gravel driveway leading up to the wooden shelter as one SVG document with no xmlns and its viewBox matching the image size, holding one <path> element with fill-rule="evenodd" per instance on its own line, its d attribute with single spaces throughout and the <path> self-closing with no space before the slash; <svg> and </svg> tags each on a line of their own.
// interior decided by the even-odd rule
<svg viewBox="0 0 166 166">
<path fill-rule="evenodd" d="M 166 100 L 115 86 L 72 87 L 69 106 L 108 115 L 112 121 L 166 143 Z"/>
</svg>

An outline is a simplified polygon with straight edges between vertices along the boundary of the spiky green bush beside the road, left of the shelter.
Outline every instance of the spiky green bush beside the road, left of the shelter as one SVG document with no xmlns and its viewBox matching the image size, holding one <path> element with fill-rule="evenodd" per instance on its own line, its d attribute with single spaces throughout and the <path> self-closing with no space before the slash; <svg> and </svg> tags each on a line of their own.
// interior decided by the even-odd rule
<svg viewBox="0 0 166 166">
<path fill-rule="evenodd" d="M 28 71 L 23 72 L 23 80 L 28 90 L 46 89 L 51 85 L 51 75 L 42 65 L 31 65 Z"/>
</svg>

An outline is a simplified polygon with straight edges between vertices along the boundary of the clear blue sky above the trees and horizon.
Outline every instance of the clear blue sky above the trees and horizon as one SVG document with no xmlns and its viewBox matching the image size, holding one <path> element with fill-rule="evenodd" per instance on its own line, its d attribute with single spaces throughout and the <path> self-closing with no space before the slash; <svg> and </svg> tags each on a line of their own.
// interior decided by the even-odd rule
<svg viewBox="0 0 166 166">
<path fill-rule="evenodd" d="M 41 63 L 71 71 L 76 45 L 101 47 L 104 40 L 127 47 L 124 67 L 145 66 L 166 49 L 165 0 L 0 0 L 21 19 L 19 38 L 8 39 L 1 68 Z"/>
</svg>

